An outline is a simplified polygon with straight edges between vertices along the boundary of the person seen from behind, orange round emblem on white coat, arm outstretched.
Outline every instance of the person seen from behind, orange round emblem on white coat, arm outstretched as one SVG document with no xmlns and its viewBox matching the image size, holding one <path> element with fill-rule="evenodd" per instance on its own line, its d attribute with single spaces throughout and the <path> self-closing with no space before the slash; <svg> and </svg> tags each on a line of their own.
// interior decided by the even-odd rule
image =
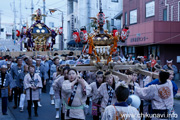
<svg viewBox="0 0 180 120">
<path fill-rule="evenodd" d="M 141 99 L 151 100 L 153 114 L 159 114 L 154 116 L 152 120 L 156 119 L 168 119 L 168 112 L 173 108 L 173 86 L 169 78 L 169 73 L 161 71 L 159 73 L 158 85 L 150 85 L 145 88 L 135 86 L 135 94 Z"/>
</svg>

